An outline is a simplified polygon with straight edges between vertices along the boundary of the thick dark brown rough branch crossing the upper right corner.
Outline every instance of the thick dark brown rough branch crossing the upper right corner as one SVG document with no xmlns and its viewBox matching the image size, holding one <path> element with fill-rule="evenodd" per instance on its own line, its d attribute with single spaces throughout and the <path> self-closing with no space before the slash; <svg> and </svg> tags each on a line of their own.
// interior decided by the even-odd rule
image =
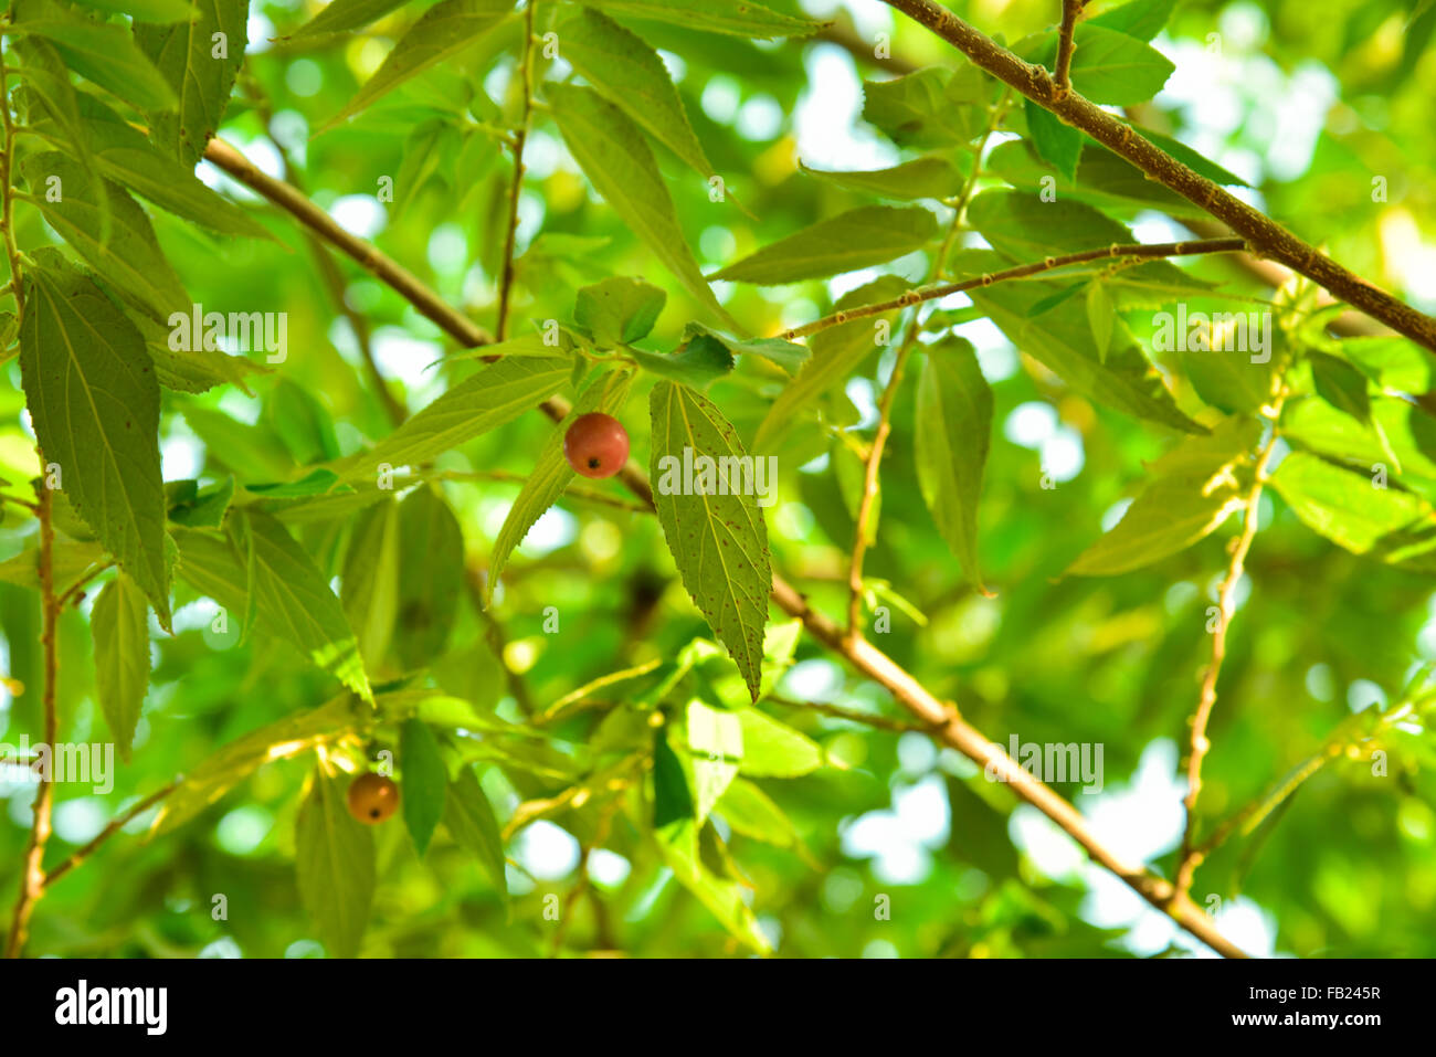
<svg viewBox="0 0 1436 1057">
<path fill-rule="evenodd" d="M 1086 132 L 1152 180 L 1195 202 L 1242 236 L 1258 257 L 1277 260 L 1374 316 L 1393 330 L 1436 352 L 1436 319 L 1348 271 L 1223 187 L 1199 175 L 1077 92 L 1058 89 L 1051 75 L 1024 62 L 933 0 L 883 0 L 954 45 L 992 76 Z"/>
</svg>

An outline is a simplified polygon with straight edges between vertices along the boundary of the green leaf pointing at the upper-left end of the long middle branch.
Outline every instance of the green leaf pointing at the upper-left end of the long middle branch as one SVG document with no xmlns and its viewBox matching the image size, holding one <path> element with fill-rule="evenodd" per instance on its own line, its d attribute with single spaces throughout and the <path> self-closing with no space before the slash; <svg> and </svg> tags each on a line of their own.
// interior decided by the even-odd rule
<svg viewBox="0 0 1436 1057">
<path fill-rule="evenodd" d="M 214 231 L 273 241 L 258 221 L 200 182 L 192 168 L 159 151 L 99 99 L 80 93 L 76 103 L 82 135 L 103 175 Z M 55 128 L 53 118 L 33 121 L 32 128 L 52 142 L 59 139 L 60 129 Z"/>
</svg>

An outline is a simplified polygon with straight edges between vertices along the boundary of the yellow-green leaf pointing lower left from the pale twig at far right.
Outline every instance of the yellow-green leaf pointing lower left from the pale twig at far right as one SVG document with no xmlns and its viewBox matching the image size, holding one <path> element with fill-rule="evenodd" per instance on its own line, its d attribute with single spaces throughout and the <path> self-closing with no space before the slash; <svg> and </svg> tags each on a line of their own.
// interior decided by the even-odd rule
<svg viewBox="0 0 1436 1057">
<path fill-rule="evenodd" d="M 1252 419 L 1229 418 L 1208 437 L 1188 437 L 1155 465 L 1155 478 L 1122 520 L 1067 569 L 1068 576 L 1116 576 L 1186 550 L 1245 506 L 1232 468 L 1249 461 Z"/>
</svg>

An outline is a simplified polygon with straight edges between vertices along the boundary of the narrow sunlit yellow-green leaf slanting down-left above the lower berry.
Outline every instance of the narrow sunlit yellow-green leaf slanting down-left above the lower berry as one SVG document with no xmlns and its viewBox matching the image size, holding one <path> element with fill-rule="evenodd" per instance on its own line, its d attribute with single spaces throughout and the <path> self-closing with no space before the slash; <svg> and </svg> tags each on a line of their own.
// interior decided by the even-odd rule
<svg viewBox="0 0 1436 1057">
<path fill-rule="evenodd" d="M 195 533 L 200 536 L 200 533 Z M 345 694 L 319 708 L 287 715 L 231 741 L 198 767 L 159 804 L 149 836 L 169 833 L 238 786 L 263 764 L 292 760 L 359 730 L 355 699 Z M 368 708 L 365 709 L 368 711 Z"/>
</svg>

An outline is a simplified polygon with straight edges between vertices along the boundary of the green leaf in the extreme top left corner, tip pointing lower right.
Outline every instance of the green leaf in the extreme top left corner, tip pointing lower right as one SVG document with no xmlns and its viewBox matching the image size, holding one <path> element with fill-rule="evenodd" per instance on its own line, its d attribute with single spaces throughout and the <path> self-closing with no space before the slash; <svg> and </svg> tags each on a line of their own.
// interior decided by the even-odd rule
<svg viewBox="0 0 1436 1057">
<path fill-rule="evenodd" d="M 142 29 L 149 27 L 135 26 L 136 36 Z M 169 83 L 122 26 L 90 22 L 52 0 L 17 0 L 10 33 L 45 37 L 72 70 L 141 109 L 175 103 Z"/>
</svg>

